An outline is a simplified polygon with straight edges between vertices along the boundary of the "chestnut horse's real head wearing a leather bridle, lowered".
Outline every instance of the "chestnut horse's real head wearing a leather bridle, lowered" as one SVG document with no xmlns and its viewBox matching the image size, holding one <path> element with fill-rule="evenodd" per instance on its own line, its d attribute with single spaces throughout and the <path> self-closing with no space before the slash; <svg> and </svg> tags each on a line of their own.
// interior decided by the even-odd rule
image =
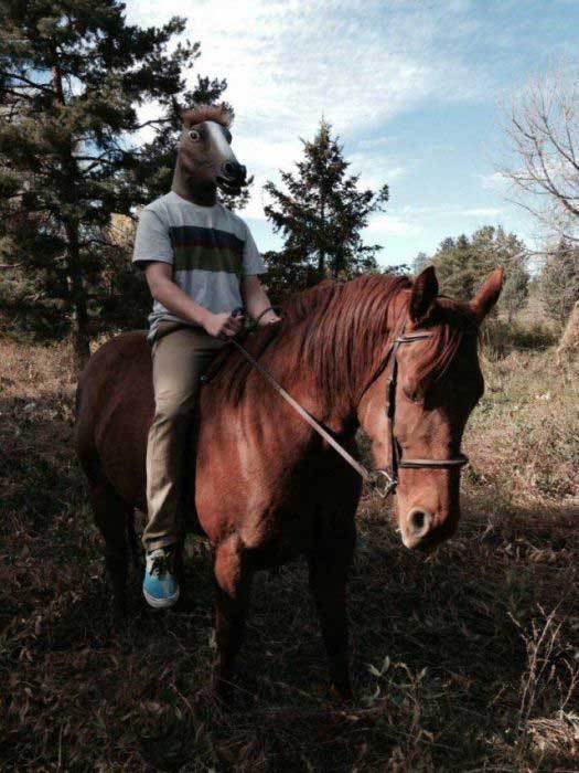
<svg viewBox="0 0 579 773">
<path fill-rule="evenodd" d="M 396 480 L 396 517 L 407 548 L 430 549 L 460 518 L 461 441 L 481 399 L 478 330 L 503 280 L 495 269 L 475 297 L 438 295 L 432 267 L 404 292 L 384 370 L 360 403 L 374 460 Z M 386 409 L 386 410 L 385 410 Z"/>
</svg>

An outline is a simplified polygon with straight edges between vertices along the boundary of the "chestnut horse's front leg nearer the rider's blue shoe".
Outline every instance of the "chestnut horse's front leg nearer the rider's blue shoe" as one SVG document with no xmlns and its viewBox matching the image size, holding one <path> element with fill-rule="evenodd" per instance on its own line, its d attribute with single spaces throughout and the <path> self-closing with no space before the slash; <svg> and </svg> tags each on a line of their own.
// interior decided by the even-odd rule
<svg viewBox="0 0 579 773">
<path fill-rule="evenodd" d="M 213 676 L 215 691 L 227 699 L 235 656 L 245 633 L 245 616 L 249 601 L 251 573 L 247 555 L 237 536 L 232 536 L 215 550 L 216 642 L 217 663 Z"/>
</svg>

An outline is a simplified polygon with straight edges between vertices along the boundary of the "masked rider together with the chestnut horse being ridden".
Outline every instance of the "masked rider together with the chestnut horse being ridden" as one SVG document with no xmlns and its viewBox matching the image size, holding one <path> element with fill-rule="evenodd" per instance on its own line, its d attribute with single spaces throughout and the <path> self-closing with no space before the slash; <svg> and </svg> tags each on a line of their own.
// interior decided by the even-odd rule
<svg viewBox="0 0 579 773">
<path fill-rule="evenodd" d="M 484 388 L 478 333 L 503 272 L 469 301 L 441 296 L 432 266 L 414 279 L 321 283 L 269 325 L 277 317 L 259 285 L 261 258 L 247 226 L 215 200 L 217 186 L 245 181 L 229 116 L 204 107 L 183 118 L 173 190 L 143 211 L 136 244 L 154 297 L 152 358 L 142 331 L 117 336 L 93 354 L 76 392 L 76 451 L 114 618 L 126 614 L 135 509 L 149 515 L 143 590 L 156 606 L 179 594 L 184 527 L 203 534 L 216 591 L 214 686 L 227 697 L 255 573 L 304 557 L 332 685 L 350 698 L 346 584 L 362 478 L 394 496 L 407 548 L 432 550 L 452 536 L 462 435 Z M 232 310 L 242 300 L 266 327 L 199 390 L 239 329 Z M 358 427 L 373 472 L 352 456 Z"/>
</svg>

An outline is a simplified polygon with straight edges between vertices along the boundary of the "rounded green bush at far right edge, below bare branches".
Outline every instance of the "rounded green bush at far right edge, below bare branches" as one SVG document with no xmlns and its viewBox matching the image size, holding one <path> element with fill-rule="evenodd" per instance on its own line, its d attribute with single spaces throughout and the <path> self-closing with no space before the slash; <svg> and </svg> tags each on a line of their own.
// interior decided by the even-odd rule
<svg viewBox="0 0 579 773">
<path fill-rule="evenodd" d="M 579 248 L 561 241 L 547 257 L 539 277 L 546 314 L 565 325 L 579 298 Z"/>
</svg>

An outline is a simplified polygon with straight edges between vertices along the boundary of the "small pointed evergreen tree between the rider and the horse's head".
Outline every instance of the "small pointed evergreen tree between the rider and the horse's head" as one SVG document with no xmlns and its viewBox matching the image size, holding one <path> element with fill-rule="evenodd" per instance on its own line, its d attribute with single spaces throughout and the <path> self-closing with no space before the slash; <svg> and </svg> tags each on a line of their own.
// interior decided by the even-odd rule
<svg viewBox="0 0 579 773">
<path fill-rule="evenodd" d="M 365 245 L 361 231 L 373 212 L 388 201 L 388 187 L 377 192 L 358 189 L 358 176 L 347 174 L 343 148 L 322 119 L 313 141 L 303 142 L 297 172 L 281 172 L 286 190 L 272 182 L 265 190 L 272 203 L 265 208 L 275 231 L 285 237 L 281 253 L 269 254 L 269 266 L 293 288 L 325 276 L 350 277 L 375 269 L 379 245 Z M 282 266 L 282 268 L 281 268 Z"/>
</svg>

